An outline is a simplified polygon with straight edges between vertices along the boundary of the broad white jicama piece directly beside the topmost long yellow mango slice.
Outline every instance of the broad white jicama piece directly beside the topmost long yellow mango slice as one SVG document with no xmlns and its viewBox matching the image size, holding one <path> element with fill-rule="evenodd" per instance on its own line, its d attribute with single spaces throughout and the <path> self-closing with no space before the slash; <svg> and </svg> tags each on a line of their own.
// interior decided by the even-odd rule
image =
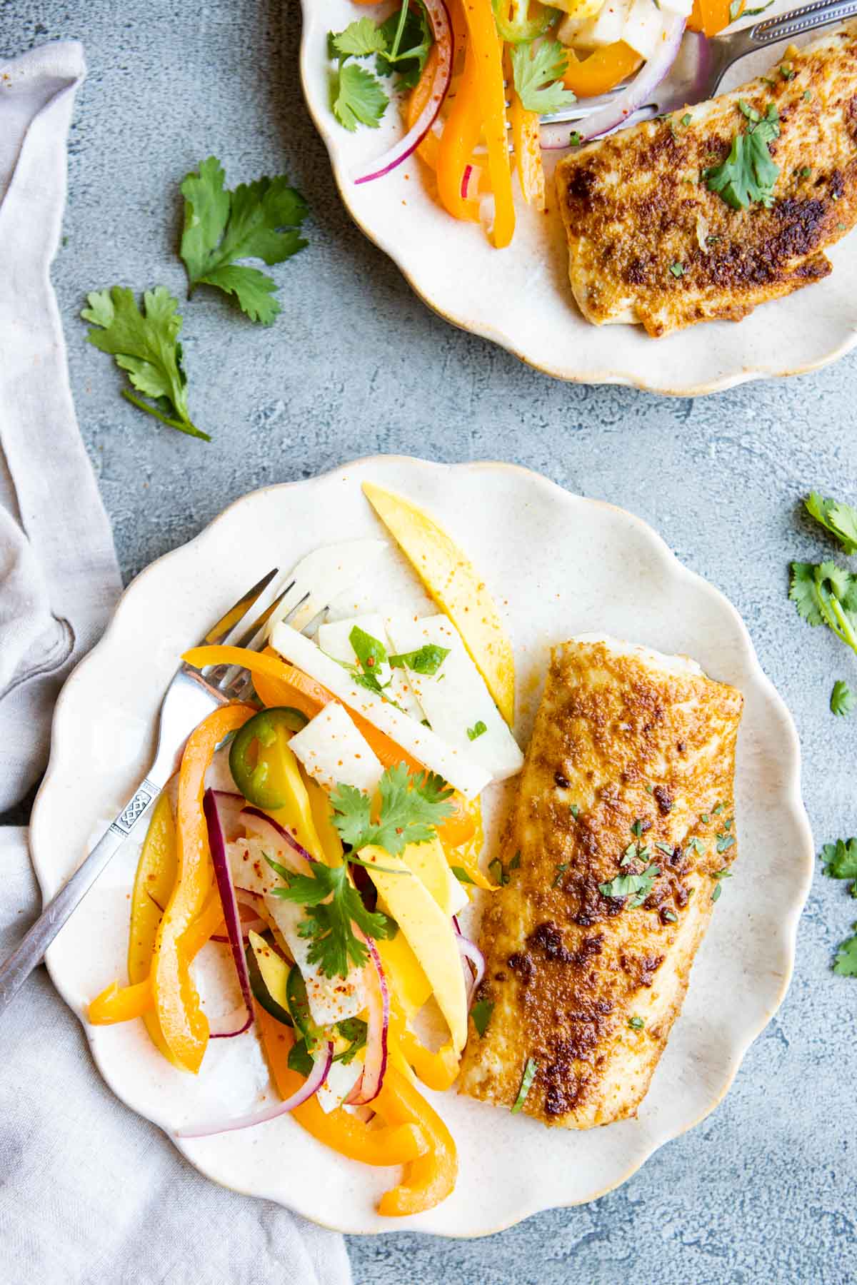
<svg viewBox="0 0 857 1285">
<path fill-rule="evenodd" d="M 409 671 L 414 694 L 432 730 L 447 744 L 466 752 L 495 781 L 519 772 L 524 756 L 448 617 L 397 617 L 387 622 L 387 631 L 397 651 L 418 651 L 434 644 L 450 653 L 433 675 Z M 479 723 L 484 731 L 475 735 Z"/>
</svg>

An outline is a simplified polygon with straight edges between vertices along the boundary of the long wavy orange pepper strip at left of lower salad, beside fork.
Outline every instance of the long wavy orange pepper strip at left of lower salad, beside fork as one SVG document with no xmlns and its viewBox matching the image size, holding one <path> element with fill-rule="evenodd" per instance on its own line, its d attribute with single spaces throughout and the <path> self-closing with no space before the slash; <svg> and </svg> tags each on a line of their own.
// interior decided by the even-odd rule
<svg viewBox="0 0 857 1285">
<path fill-rule="evenodd" d="M 249 705 L 221 705 L 194 729 L 181 757 L 176 813 L 179 870 L 155 937 L 152 995 L 175 1063 L 194 1074 L 208 1045 L 208 1019 L 190 975 L 190 955 L 182 938 L 202 911 L 213 879 L 202 811 L 206 772 L 220 741 L 254 713 Z"/>
</svg>

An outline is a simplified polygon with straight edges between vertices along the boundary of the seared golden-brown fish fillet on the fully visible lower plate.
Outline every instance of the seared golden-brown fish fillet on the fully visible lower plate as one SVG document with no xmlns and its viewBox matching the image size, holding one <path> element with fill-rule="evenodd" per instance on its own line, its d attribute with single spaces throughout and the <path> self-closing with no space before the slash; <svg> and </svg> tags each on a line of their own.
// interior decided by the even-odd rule
<svg viewBox="0 0 857 1285">
<path fill-rule="evenodd" d="M 483 917 L 493 1009 L 482 1038 L 470 1023 L 463 1092 L 511 1106 L 532 1058 L 528 1115 L 591 1128 L 635 1114 L 735 858 L 741 704 L 684 657 L 592 635 L 555 648 L 509 883 Z"/>
</svg>

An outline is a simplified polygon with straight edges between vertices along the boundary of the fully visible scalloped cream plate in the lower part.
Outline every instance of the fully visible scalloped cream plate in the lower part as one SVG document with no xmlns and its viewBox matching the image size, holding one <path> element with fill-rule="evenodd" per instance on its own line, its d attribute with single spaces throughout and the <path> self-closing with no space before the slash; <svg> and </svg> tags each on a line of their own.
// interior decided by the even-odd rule
<svg viewBox="0 0 857 1285">
<path fill-rule="evenodd" d="M 637 1119 L 588 1132 L 546 1130 L 454 1091 L 428 1094 L 459 1149 L 455 1192 L 403 1221 L 375 1213 L 398 1171 L 347 1162 L 290 1118 L 185 1141 L 181 1150 L 225 1186 L 266 1196 L 347 1232 L 402 1227 L 482 1236 L 555 1205 L 592 1200 L 628 1178 L 655 1148 L 705 1117 L 726 1094 L 744 1052 L 776 1011 L 794 960 L 797 921 L 813 851 L 800 802 L 791 718 L 762 673 L 748 632 L 726 599 L 686 571 L 648 526 L 606 504 L 569 495 L 502 464 L 447 466 L 396 456 L 360 460 L 308 482 L 239 500 L 195 540 L 154 563 L 127 590 L 104 639 L 67 682 L 51 759 L 32 819 L 33 864 L 45 897 L 69 876 L 102 819 L 143 776 L 155 717 L 179 654 L 274 563 L 285 572 L 330 541 L 384 535 L 364 481 L 434 514 L 473 558 L 515 649 L 517 735 L 526 745 L 551 644 L 585 631 L 695 657 L 745 696 L 736 780 L 740 855 L 694 966 L 687 1000 Z M 392 547 L 360 591 L 337 605 L 425 600 Z M 496 835 L 504 797 L 487 799 Z M 48 955 L 58 989 L 84 1019 L 87 1001 L 125 980 L 128 894 L 139 847 L 126 844 Z M 203 1001 L 234 1000 L 225 948 L 207 947 Z M 22 1002 L 26 1002 L 22 1001 Z M 270 1099 L 252 1033 L 209 1045 L 198 1077 L 175 1070 L 141 1022 L 85 1024 L 113 1091 L 167 1132 L 213 1115 L 243 1114 Z"/>
</svg>

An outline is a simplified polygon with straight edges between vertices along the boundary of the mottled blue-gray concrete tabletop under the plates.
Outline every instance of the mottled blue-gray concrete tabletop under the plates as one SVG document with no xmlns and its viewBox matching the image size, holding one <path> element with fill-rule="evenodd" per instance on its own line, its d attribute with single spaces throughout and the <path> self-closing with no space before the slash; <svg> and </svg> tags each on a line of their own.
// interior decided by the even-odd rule
<svg viewBox="0 0 857 1285">
<path fill-rule="evenodd" d="M 343 213 L 301 102 L 299 26 L 294 0 L 0 0 L 0 57 L 57 37 L 86 45 L 54 278 L 126 577 L 245 491 L 356 455 L 526 464 L 641 514 L 725 590 L 797 720 L 817 842 L 856 833 L 857 716 L 834 720 L 827 699 L 836 677 L 857 686 L 857 658 L 798 621 L 786 565 L 827 550 L 798 511 L 811 486 L 857 500 L 857 356 L 788 383 L 663 401 L 554 383 L 451 329 Z M 177 184 L 212 152 L 230 181 L 289 173 L 312 220 L 311 248 L 275 269 L 284 312 L 274 329 L 211 293 L 186 308 L 191 407 L 215 438 L 206 446 L 121 401 L 118 371 L 84 342 L 77 314 L 86 290 L 113 283 L 181 296 Z M 816 878 L 791 991 L 729 1097 L 619 1191 L 474 1243 L 352 1239 L 357 1282 L 857 1279 L 857 982 L 830 974 L 854 919 L 844 885 Z M 191 1262 L 172 1279 L 193 1281 Z"/>
</svg>

